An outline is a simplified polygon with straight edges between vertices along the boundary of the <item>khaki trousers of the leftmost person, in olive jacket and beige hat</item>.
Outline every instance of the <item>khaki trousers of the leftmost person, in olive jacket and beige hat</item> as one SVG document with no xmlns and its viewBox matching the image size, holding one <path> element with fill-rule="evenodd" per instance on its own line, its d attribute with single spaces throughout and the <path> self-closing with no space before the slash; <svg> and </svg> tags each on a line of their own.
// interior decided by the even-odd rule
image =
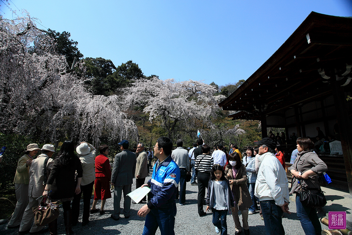
<svg viewBox="0 0 352 235">
<path fill-rule="evenodd" d="M 28 204 L 28 184 L 15 184 L 16 207 L 7 226 L 14 227 L 20 225 L 23 213 Z"/>
</svg>

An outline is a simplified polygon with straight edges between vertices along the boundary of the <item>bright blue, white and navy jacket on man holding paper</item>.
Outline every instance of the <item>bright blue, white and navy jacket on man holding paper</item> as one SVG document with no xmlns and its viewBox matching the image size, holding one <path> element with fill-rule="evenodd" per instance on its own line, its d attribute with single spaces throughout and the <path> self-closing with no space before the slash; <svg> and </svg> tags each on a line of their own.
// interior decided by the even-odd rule
<svg viewBox="0 0 352 235">
<path fill-rule="evenodd" d="M 157 167 L 155 163 L 152 178 L 148 181 L 151 191 L 148 193 L 148 208 L 158 208 L 176 199 L 177 186 L 180 183 L 180 168 L 172 160 L 171 155 Z"/>
</svg>

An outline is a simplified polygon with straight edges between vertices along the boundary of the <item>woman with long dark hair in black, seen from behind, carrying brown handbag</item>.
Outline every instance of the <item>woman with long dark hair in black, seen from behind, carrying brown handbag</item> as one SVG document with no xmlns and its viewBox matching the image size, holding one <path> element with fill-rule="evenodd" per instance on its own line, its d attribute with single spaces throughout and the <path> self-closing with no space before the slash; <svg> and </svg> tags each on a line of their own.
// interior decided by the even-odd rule
<svg viewBox="0 0 352 235">
<path fill-rule="evenodd" d="M 75 172 L 77 171 L 77 183 L 75 183 Z M 54 159 L 43 196 L 49 196 L 52 200 L 61 200 L 64 210 L 64 223 L 67 235 L 73 235 L 71 201 L 74 194 L 81 192 L 81 180 L 83 169 L 80 159 L 74 154 L 74 144 L 67 140 L 63 142 L 61 149 Z M 51 235 L 57 234 L 57 219 L 49 223 Z"/>
</svg>

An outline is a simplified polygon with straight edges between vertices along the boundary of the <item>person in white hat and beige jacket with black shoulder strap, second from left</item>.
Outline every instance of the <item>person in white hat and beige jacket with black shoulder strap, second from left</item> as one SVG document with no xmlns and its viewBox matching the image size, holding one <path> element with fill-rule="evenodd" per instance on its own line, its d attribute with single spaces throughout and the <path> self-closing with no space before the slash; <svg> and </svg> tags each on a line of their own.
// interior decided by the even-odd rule
<svg viewBox="0 0 352 235">
<path fill-rule="evenodd" d="M 48 228 L 44 228 L 42 226 L 37 227 L 33 221 L 33 208 L 38 206 L 38 201 L 36 199 L 43 195 L 43 182 L 44 182 L 44 163 L 45 159 L 48 158 L 46 163 L 46 177 L 49 176 L 52 166 L 54 165 L 54 160 L 51 158 L 54 153 L 55 148 L 52 144 L 44 144 L 41 149 L 42 154 L 40 154 L 36 159 L 32 161 L 31 167 L 29 169 L 29 203 L 24 211 L 20 229 L 18 234 L 41 234 L 48 231 Z"/>
</svg>

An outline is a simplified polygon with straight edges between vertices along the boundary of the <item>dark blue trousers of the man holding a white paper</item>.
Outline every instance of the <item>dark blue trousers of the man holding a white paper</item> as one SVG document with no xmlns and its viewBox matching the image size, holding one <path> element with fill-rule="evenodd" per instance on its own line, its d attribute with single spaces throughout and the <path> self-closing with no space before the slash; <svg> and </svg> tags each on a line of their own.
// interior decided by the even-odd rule
<svg viewBox="0 0 352 235">
<path fill-rule="evenodd" d="M 142 235 L 155 235 L 158 227 L 161 235 L 175 235 L 176 202 L 153 208 L 145 217 Z"/>
</svg>

